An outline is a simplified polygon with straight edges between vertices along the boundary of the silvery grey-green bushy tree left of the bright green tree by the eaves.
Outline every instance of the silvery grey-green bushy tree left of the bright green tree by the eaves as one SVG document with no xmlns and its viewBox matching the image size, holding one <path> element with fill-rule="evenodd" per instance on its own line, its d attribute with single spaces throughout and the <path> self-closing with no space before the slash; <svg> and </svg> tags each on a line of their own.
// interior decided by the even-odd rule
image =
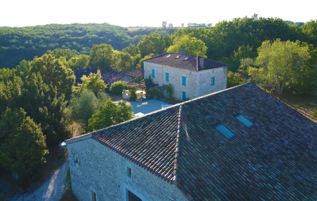
<svg viewBox="0 0 317 201">
<path fill-rule="evenodd" d="M 88 119 L 94 114 L 94 111 L 107 100 L 105 93 L 99 93 L 98 97 L 94 92 L 83 89 L 78 97 L 70 99 L 67 112 L 70 114 L 71 119 L 74 121 L 81 121 L 86 126 Z"/>
</svg>

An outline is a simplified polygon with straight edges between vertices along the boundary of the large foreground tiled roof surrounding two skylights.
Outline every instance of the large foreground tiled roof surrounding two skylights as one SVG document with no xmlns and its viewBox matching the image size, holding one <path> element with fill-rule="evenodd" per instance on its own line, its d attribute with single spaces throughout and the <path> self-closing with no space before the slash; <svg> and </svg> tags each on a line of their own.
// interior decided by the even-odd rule
<svg viewBox="0 0 317 201">
<path fill-rule="evenodd" d="M 224 137 L 219 123 L 236 136 Z M 190 200 L 316 200 L 316 132 L 317 124 L 247 83 L 82 138 L 176 183 Z"/>
</svg>

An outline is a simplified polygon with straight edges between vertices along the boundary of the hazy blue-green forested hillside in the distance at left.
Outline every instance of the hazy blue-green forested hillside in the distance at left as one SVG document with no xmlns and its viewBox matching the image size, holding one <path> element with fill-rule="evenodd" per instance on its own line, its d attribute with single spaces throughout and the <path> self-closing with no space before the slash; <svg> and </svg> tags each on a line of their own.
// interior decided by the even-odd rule
<svg viewBox="0 0 317 201">
<path fill-rule="evenodd" d="M 48 24 L 0 28 L 0 67 L 14 68 L 21 60 L 32 60 L 47 50 L 69 48 L 89 54 L 94 44 L 106 43 L 121 50 L 151 33 L 171 34 L 177 28 L 127 28 L 108 23 Z"/>
</svg>

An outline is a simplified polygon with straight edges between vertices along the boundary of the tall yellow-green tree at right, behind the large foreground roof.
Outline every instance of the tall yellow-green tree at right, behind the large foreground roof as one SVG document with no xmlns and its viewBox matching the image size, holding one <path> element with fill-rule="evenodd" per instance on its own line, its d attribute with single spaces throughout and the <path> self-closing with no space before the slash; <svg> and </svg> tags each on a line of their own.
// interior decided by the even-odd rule
<svg viewBox="0 0 317 201">
<path fill-rule="evenodd" d="M 307 69 L 305 66 L 309 58 L 308 47 L 301 46 L 299 42 L 264 41 L 256 57 L 259 68 L 249 67 L 248 74 L 262 86 L 272 87 L 281 99 L 283 89 L 290 83 L 298 82 L 299 70 Z"/>
</svg>

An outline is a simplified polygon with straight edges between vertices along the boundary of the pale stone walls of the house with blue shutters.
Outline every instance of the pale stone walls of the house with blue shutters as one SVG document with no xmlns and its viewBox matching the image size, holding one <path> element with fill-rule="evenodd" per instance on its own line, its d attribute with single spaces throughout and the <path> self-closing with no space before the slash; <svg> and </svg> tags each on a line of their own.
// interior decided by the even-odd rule
<svg viewBox="0 0 317 201">
<path fill-rule="evenodd" d="M 173 96 L 177 100 L 182 99 L 182 91 L 186 92 L 186 98 L 196 98 L 227 88 L 227 67 L 191 71 L 174 68 L 166 65 L 144 62 L 144 77 L 152 75 L 155 70 L 153 83 L 159 86 L 171 84 Z M 169 73 L 169 81 L 165 80 L 165 73 Z M 186 77 L 186 86 L 182 85 L 182 76 Z M 211 77 L 215 77 L 215 84 L 211 85 Z"/>
</svg>

